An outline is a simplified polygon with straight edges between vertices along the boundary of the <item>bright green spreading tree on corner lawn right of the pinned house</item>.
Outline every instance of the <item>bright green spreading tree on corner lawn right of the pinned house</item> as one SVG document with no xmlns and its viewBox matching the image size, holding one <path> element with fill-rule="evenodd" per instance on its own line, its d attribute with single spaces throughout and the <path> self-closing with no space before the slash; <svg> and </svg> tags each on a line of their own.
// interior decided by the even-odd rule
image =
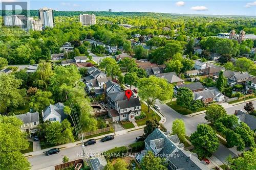
<svg viewBox="0 0 256 170">
<path fill-rule="evenodd" d="M 173 86 L 165 79 L 155 76 L 140 79 L 138 89 L 139 97 L 147 103 L 147 112 L 150 112 L 150 107 L 154 105 L 157 99 L 163 102 L 173 97 Z"/>
</svg>

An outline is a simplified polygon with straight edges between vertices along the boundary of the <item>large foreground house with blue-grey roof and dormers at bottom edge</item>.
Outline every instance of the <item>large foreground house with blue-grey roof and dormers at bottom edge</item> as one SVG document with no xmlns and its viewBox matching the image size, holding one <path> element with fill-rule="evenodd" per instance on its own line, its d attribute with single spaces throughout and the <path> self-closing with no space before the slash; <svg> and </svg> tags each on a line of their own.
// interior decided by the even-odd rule
<svg viewBox="0 0 256 170">
<path fill-rule="evenodd" d="M 151 151 L 167 163 L 168 169 L 206 170 L 209 169 L 201 163 L 197 154 L 185 151 L 184 144 L 180 143 L 177 135 L 168 136 L 159 129 L 155 129 L 144 140 L 145 150 L 136 159 L 141 162 L 146 152 Z"/>
</svg>

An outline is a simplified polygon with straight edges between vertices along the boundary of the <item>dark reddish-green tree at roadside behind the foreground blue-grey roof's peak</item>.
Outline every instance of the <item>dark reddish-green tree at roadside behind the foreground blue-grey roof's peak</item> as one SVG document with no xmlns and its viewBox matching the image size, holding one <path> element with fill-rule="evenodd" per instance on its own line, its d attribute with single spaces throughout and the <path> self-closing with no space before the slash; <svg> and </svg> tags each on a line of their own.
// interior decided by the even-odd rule
<svg viewBox="0 0 256 170">
<path fill-rule="evenodd" d="M 146 138 L 150 135 L 156 128 L 160 129 L 163 132 L 166 132 L 166 128 L 158 122 L 157 119 L 148 119 L 146 120 L 146 126 L 144 127 L 143 137 Z"/>
</svg>

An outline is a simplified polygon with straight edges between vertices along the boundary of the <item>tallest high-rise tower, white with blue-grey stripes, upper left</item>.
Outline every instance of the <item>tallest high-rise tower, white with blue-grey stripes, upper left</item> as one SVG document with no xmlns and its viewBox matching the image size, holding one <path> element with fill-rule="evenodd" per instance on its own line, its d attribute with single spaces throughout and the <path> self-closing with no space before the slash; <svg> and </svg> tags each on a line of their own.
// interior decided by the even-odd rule
<svg viewBox="0 0 256 170">
<path fill-rule="evenodd" d="M 53 28 L 54 26 L 54 19 L 53 19 L 53 10 L 50 8 L 40 8 L 38 10 L 38 17 L 42 22 L 42 27 L 50 27 Z"/>
</svg>

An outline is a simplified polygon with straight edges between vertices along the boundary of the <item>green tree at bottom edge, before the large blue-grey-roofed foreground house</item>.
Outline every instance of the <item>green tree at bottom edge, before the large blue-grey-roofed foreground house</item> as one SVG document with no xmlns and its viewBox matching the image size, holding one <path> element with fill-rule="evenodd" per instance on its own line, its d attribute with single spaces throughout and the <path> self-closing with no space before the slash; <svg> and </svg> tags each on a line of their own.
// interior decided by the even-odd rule
<svg viewBox="0 0 256 170">
<path fill-rule="evenodd" d="M 152 151 L 148 151 L 141 160 L 141 167 L 143 170 L 167 170 L 167 167 L 163 164 L 164 160 L 159 157 L 155 157 Z"/>
</svg>

